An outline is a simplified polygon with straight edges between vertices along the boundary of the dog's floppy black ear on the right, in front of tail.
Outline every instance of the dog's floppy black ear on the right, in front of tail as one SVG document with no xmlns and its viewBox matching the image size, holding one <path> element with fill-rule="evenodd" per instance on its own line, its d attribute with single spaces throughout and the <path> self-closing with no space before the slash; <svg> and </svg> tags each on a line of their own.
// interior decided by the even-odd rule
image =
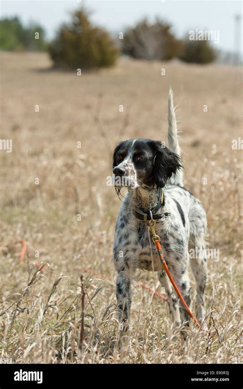
<svg viewBox="0 0 243 389">
<path fill-rule="evenodd" d="M 159 141 L 153 141 L 155 152 L 153 178 L 159 188 L 163 188 L 176 171 L 183 168 L 180 157 Z"/>
</svg>

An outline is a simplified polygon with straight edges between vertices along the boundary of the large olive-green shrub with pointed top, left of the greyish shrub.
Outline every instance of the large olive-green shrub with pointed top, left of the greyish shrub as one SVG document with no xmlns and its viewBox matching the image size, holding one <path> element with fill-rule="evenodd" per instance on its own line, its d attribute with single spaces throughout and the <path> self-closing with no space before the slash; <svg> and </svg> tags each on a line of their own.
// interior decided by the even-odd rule
<svg viewBox="0 0 243 389">
<path fill-rule="evenodd" d="M 79 10 L 60 27 L 49 53 L 55 67 L 92 69 L 112 66 L 118 51 L 108 32 L 92 26 L 87 12 Z"/>
</svg>

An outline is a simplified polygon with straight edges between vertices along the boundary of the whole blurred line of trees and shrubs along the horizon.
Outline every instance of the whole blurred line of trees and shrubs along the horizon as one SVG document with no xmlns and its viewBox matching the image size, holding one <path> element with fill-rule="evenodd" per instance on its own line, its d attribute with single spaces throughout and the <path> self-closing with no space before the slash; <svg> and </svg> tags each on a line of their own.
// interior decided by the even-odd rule
<svg viewBox="0 0 243 389">
<path fill-rule="evenodd" d="M 179 58 L 185 62 L 210 63 L 216 51 L 207 40 L 177 39 L 172 26 L 156 18 L 127 28 L 122 38 L 114 39 L 104 29 L 94 26 L 89 13 L 80 9 L 70 23 L 60 26 L 52 42 L 47 44 L 45 31 L 38 24 L 24 27 L 18 17 L 0 20 L 0 49 L 48 50 L 54 67 L 97 69 L 112 66 L 119 53 L 137 59 L 164 60 Z M 35 39 L 35 33 L 39 39 Z"/>
</svg>

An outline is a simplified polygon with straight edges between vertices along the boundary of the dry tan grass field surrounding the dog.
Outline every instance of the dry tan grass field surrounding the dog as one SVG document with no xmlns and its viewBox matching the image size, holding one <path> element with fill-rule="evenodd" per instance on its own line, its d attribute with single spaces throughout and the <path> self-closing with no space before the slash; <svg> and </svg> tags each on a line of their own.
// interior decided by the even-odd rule
<svg viewBox="0 0 243 389">
<path fill-rule="evenodd" d="M 240 363 L 242 150 L 232 140 L 242 137 L 241 70 L 122 58 L 113 69 L 77 76 L 50 71 L 46 54 L 1 56 L 1 139 L 12 139 L 13 150 L 0 150 L 0 359 Z M 119 353 L 112 244 L 120 201 L 106 178 L 119 140 L 167 142 L 170 85 L 185 186 L 204 204 L 208 248 L 220 253 L 209 259 L 210 332 L 192 327 L 182 348 L 167 303 L 140 287 L 164 294 L 157 275 L 137 271 L 130 336 Z M 28 244 L 23 263 L 19 240 Z"/>
</svg>

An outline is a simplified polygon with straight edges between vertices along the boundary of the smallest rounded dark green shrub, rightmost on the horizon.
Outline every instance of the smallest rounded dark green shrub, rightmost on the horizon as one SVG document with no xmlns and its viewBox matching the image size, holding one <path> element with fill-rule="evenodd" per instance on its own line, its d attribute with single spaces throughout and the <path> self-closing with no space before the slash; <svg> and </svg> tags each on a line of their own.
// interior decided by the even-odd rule
<svg viewBox="0 0 243 389">
<path fill-rule="evenodd" d="M 180 59 L 185 62 L 210 63 L 217 57 L 216 51 L 208 40 L 186 40 Z"/>
</svg>

